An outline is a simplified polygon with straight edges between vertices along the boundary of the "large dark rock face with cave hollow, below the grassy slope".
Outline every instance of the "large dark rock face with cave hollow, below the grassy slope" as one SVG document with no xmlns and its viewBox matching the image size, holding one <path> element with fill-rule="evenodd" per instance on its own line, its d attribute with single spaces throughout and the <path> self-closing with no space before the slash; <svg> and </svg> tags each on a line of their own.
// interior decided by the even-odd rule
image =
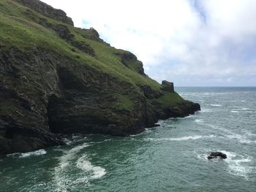
<svg viewBox="0 0 256 192">
<path fill-rule="evenodd" d="M 117 86 L 108 74 L 56 53 L 0 50 L 0 153 L 60 144 L 50 132 L 125 136 L 157 122 L 154 108 L 129 83 Z M 112 108 L 115 92 L 131 96 L 134 109 Z M 24 142 L 34 145 L 20 147 Z"/>
</svg>

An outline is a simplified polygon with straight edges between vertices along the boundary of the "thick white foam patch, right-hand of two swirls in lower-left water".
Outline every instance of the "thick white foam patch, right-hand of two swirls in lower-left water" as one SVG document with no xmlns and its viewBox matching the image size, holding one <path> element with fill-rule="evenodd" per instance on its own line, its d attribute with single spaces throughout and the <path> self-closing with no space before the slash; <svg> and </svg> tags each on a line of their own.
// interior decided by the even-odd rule
<svg viewBox="0 0 256 192">
<path fill-rule="evenodd" d="M 79 169 L 82 169 L 84 172 L 91 173 L 91 179 L 99 179 L 106 174 L 105 169 L 103 169 L 102 167 L 92 165 L 91 162 L 88 161 L 88 159 L 86 158 L 86 155 L 78 158 L 76 166 Z"/>
</svg>

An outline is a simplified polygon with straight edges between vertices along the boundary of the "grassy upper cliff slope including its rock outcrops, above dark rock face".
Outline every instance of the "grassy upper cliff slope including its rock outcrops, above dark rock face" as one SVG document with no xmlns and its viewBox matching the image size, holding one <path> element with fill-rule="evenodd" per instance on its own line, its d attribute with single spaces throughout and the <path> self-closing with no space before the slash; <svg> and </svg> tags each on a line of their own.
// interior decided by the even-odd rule
<svg viewBox="0 0 256 192">
<path fill-rule="evenodd" d="M 99 38 L 93 28 L 75 28 L 70 23 L 51 17 L 55 14 L 54 10 L 50 10 L 53 14 L 42 15 L 23 1 L 29 0 L 0 1 L 1 46 L 18 47 L 25 52 L 33 48 L 53 51 L 81 65 L 109 74 L 118 81 L 129 82 L 139 88 L 150 87 L 153 91 L 163 93 L 157 99 L 161 104 L 183 101 L 176 93 L 165 94 L 157 81 L 139 72 L 143 67 L 135 55 L 111 47 Z M 37 0 L 34 2 L 43 4 Z"/>
</svg>

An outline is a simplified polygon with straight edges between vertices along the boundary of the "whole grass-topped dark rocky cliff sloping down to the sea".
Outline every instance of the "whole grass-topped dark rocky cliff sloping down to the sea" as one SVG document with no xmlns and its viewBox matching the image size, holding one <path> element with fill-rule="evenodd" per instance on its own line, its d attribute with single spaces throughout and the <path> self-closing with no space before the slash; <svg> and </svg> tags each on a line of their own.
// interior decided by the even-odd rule
<svg viewBox="0 0 256 192">
<path fill-rule="evenodd" d="M 197 110 L 94 28 L 41 1 L 0 1 L 0 155 L 62 145 L 59 134 L 137 134 Z"/>
</svg>

